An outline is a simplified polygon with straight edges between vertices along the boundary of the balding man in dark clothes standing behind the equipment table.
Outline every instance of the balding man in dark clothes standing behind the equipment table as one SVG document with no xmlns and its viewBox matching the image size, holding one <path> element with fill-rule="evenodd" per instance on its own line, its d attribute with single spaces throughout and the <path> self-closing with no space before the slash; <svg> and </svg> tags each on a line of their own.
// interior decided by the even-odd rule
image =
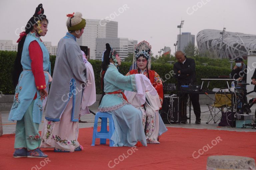
<svg viewBox="0 0 256 170">
<path fill-rule="evenodd" d="M 175 57 L 178 62 L 174 63 L 175 78 L 178 81 L 178 91 L 181 85 L 193 85 L 196 83 L 196 64 L 192 58 L 187 58 L 182 51 L 177 51 Z M 181 100 L 186 100 L 187 95 L 183 95 Z M 201 124 L 201 109 L 199 104 L 199 94 L 191 94 L 191 103 L 196 115 L 196 124 Z M 184 123 L 187 122 L 187 115 L 182 115 Z"/>
</svg>

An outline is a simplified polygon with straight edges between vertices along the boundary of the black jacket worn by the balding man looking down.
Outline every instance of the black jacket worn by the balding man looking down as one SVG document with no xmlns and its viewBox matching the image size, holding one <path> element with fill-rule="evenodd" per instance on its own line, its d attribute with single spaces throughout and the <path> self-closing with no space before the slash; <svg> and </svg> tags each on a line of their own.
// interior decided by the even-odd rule
<svg viewBox="0 0 256 170">
<path fill-rule="evenodd" d="M 178 86 L 196 82 L 196 63 L 192 58 L 187 58 L 184 64 L 180 62 L 174 63 L 173 67 L 175 78 L 178 80 Z M 178 74 L 180 70 L 181 74 Z"/>
</svg>

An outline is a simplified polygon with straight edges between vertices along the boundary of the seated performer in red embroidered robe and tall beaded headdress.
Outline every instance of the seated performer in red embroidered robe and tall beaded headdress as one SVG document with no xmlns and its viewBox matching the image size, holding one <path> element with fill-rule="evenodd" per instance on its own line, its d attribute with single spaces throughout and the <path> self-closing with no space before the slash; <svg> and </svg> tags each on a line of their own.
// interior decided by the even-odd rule
<svg viewBox="0 0 256 170">
<path fill-rule="evenodd" d="M 163 85 L 160 76 L 154 70 L 150 70 L 150 50 L 151 45 L 146 41 L 142 41 L 135 45 L 135 58 L 133 59 L 133 66 L 135 65 L 137 68 L 131 70 L 126 75 L 144 74 L 146 77 L 148 77 L 158 93 L 157 97 L 153 97 L 150 93 L 146 92 L 146 102 L 143 103 L 142 106 L 136 107 L 136 104 L 133 106 L 142 112 L 142 123 L 143 127 L 145 128 L 147 143 L 159 143 L 158 136 L 167 131 L 167 128 L 165 127 L 158 112 L 163 103 Z"/>
</svg>

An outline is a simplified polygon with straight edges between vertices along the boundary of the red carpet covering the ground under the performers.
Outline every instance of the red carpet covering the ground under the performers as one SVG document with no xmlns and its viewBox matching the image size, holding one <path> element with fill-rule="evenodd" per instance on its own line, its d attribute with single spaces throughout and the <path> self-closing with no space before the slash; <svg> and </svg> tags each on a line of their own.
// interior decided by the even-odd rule
<svg viewBox="0 0 256 170">
<path fill-rule="evenodd" d="M 55 153 L 53 149 L 42 149 L 49 159 L 13 158 L 14 135 L 3 135 L 0 137 L 0 169 L 91 170 L 114 166 L 112 169 L 205 170 L 207 157 L 211 155 L 256 159 L 256 132 L 168 128 L 160 138 L 161 144 L 131 148 L 99 145 L 99 139 L 96 139 L 97 145 L 91 146 L 92 128 L 82 128 L 79 130 L 79 142 L 84 147 L 83 151 Z"/>
</svg>

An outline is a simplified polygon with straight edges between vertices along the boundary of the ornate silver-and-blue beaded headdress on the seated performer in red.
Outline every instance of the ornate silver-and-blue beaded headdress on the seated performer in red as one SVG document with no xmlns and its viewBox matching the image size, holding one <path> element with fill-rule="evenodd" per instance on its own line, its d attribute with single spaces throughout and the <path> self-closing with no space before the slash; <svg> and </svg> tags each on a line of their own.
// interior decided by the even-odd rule
<svg viewBox="0 0 256 170">
<path fill-rule="evenodd" d="M 134 56 L 133 56 L 133 66 L 132 69 L 135 69 L 137 67 L 137 58 L 141 55 L 143 55 L 147 61 L 148 61 L 148 69 L 150 70 L 150 66 L 151 66 L 151 45 L 146 42 L 146 41 L 142 41 L 140 43 L 138 43 L 137 45 L 134 46 Z M 135 68 L 134 68 L 135 65 Z"/>
</svg>

